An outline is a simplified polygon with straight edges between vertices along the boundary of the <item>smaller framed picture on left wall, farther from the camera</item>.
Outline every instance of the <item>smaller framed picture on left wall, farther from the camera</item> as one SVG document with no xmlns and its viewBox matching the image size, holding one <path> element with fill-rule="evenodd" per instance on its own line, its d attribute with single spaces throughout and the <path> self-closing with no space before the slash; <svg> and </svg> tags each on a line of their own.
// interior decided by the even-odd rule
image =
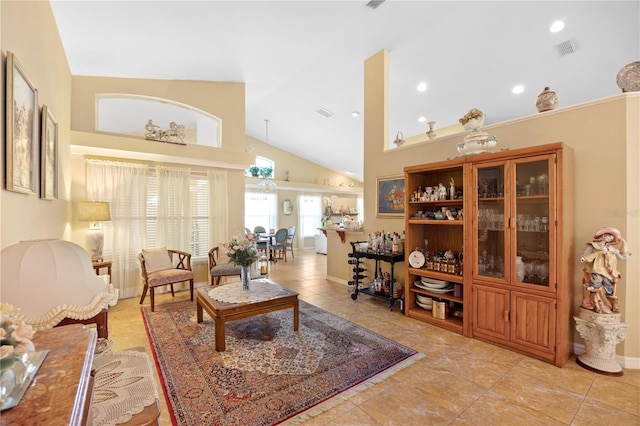
<svg viewBox="0 0 640 426">
<path fill-rule="evenodd" d="M 42 106 L 40 198 L 45 200 L 58 198 L 58 123 L 46 105 Z"/>
</svg>

